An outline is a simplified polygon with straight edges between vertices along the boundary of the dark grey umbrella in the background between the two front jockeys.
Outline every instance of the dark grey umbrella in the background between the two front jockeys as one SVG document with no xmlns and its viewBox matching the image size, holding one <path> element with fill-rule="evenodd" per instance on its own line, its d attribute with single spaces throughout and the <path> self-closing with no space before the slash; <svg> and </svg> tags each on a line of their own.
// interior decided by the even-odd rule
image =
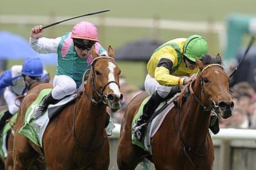
<svg viewBox="0 0 256 170">
<path fill-rule="evenodd" d="M 115 53 L 116 60 L 147 62 L 154 50 L 163 42 L 152 39 L 141 39 L 128 43 Z"/>
</svg>

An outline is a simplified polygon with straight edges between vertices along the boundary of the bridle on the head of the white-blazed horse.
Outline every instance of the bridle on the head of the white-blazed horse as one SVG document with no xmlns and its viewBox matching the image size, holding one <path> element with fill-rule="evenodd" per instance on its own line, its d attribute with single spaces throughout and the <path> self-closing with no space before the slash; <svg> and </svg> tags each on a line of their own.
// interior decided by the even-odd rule
<svg viewBox="0 0 256 170">
<path fill-rule="evenodd" d="M 115 83 L 115 84 L 118 86 L 118 88 L 120 88 L 120 85 L 119 85 L 116 81 L 109 81 L 108 83 L 106 83 L 106 85 L 103 86 L 103 88 L 102 88 L 101 91 L 99 90 L 99 88 L 98 88 L 97 85 L 95 84 L 94 64 L 96 63 L 95 61 L 98 60 L 98 59 L 100 59 L 100 58 L 106 58 L 106 59 L 111 59 L 111 60 L 115 61 L 114 58 L 109 57 L 109 56 L 99 56 L 99 57 L 96 57 L 96 58 L 94 58 L 94 59 L 92 60 L 92 63 L 91 63 L 91 65 L 92 65 L 92 91 L 93 91 L 93 94 L 96 93 L 96 94 L 99 96 L 100 100 L 97 100 L 97 99 L 95 99 L 95 98 L 89 96 L 89 94 L 88 94 L 88 93 L 86 92 L 86 90 L 85 90 L 84 77 L 85 77 L 85 75 L 86 75 L 86 72 L 87 72 L 87 71 L 90 71 L 91 69 L 88 69 L 88 70 L 86 70 L 86 71 L 84 72 L 83 80 L 82 80 L 83 91 L 84 91 L 85 95 L 86 95 L 86 96 L 88 97 L 88 99 L 91 100 L 92 103 L 95 104 L 95 105 L 98 104 L 98 103 L 100 103 L 100 102 L 103 102 L 104 104 L 107 104 L 107 103 L 108 103 L 107 95 L 106 95 L 106 94 L 103 94 L 103 92 L 104 92 L 104 90 L 106 89 L 106 87 L 107 87 L 109 84 Z"/>
</svg>

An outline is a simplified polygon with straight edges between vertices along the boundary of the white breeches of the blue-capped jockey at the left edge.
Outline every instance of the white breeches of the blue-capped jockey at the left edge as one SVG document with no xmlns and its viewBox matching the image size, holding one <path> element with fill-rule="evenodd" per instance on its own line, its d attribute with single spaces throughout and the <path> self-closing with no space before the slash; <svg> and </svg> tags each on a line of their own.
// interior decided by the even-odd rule
<svg viewBox="0 0 256 170">
<path fill-rule="evenodd" d="M 12 115 L 14 115 L 19 110 L 19 107 L 15 105 L 15 99 L 17 98 L 17 96 L 18 95 L 16 95 L 14 92 L 12 92 L 9 87 L 5 88 L 4 100 L 7 103 L 9 112 Z M 20 100 L 17 100 L 16 104 L 20 105 Z"/>
</svg>

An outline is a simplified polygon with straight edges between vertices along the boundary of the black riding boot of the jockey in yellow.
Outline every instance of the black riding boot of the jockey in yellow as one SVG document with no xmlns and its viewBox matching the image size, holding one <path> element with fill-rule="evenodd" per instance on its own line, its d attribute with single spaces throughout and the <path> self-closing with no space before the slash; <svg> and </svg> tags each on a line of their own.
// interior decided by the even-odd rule
<svg viewBox="0 0 256 170">
<path fill-rule="evenodd" d="M 147 129 L 147 121 L 155 112 L 155 109 L 158 105 L 164 101 L 162 97 L 160 97 L 157 92 L 155 92 L 148 100 L 148 102 L 143 107 L 143 113 L 137 121 L 137 124 L 133 127 L 135 132 L 135 137 L 141 142 L 144 138 L 145 131 Z"/>
</svg>

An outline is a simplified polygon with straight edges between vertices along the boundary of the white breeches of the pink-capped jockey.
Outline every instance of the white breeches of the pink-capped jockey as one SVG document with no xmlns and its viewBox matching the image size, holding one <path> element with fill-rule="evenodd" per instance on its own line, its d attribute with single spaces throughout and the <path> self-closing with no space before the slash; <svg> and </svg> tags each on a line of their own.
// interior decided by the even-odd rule
<svg viewBox="0 0 256 170">
<path fill-rule="evenodd" d="M 74 92 L 82 91 L 83 86 L 76 88 L 76 82 L 73 78 L 67 75 L 55 75 L 53 79 L 52 97 L 54 99 L 62 99 L 63 97 L 73 94 Z"/>
</svg>

